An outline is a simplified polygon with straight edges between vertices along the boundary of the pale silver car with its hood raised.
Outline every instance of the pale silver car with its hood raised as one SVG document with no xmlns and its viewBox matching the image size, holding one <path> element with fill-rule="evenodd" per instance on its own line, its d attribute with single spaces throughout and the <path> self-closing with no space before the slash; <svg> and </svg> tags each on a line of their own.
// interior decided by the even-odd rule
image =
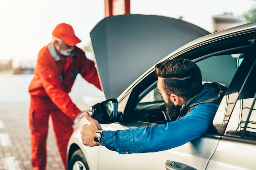
<svg viewBox="0 0 256 170">
<path fill-rule="evenodd" d="M 113 21 L 115 18 L 121 21 L 122 17 L 128 16 L 107 18 L 97 26 L 100 26 L 99 30 L 104 29 L 105 26 L 106 28 L 112 26 L 113 23 L 123 26 L 127 23 L 125 20 L 121 23 Z M 111 22 L 108 22 L 108 19 Z M 145 20 L 140 21 L 144 26 Z M 177 26 L 176 29 L 182 30 L 181 32 L 189 32 L 191 25 L 184 23 L 184 21 L 175 20 L 173 25 Z M 161 152 L 120 155 L 104 146 L 84 146 L 80 138 L 81 126 L 89 122 L 82 118 L 75 125 L 68 144 L 69 170 L 256 169 L 256 106 L 254 106 L 256 101 L 256 22 L 211 34 L 198 29 L 201 35 L 197 35 L 198 39 L 192 37 L 187 44 L 185 41 L 181 42 L 182 33 L 173 33 L 170 35 L 173 36 L 172 43 L 177 46 L 170 48 L 169 54 L 166 55 L 164 53 L 168 48 L 158 49 L 170 41 L 169 35 L 162 37 L 157 35 L 159 40 L 155 37 L 152 40 L 145 35 L 141 40 L 143 35 L 138 33 L 136 35 L 138 39 L 136 39 L 132 36 L 132 32 L 128 33 L 128 31 L 126 32 L 128 40 L 126 40 L 119 38 L 121 33 L 118 34 L 118 29 L 112 28 L 106 29 L 107 32 L 114 31 L 113 35 L 117 34 L 117 36 L 108 41 L 109 34 L 106 31 L 95 31 L 97 26 L 91 32 L 92 45 L 101 83 L 108 100 L 93 106 L 91 112 L 92 116 L 99 120 L 103 130 L 152 126 L 171 121 L 165 114 L 165 104 L 157 91 L 157 77 L 154 74 L 155 64 L 164 60 L 189 58 L 200 67 L 202 83 L 218 82 L 228 89 L 213 119 L 214 126 L 211 132 L 182 146 Z M 128 30 L 133 26 L 125 25 L 124 27 Z M 141 31 L 143 34 L 143 29 Z M 170 32 L 173 31 L 175 32 L 175 29 Z M 99 36 L 98 40 L 95 41 L 94 38 L 97 36 Z M 134 39 L 133 42 L 130 41 L 132 38 L 129 39 L 129 36 Z M 100 41 L 100 37 L 103 41 Z M 158 45 L 152 46 L 153 49 L 150 49 L 149 54 L 143 55 L 142 52 L 133 51 L 137 47 L 141 51 L 148 52 L 149 48 L 145 44 L 155 40 L 158 41 Z M 162 40 L 164 44 L 161 43 Z M 115 47 L 117 51 L 114 50 Z M 129 53 L 129 51 L 132 52 Z M 139 57 L 137 53 L 140 53 Z M 150 53 L 153 54 L 150 55 Z M 113 57 L 113 55 L 116 56 Z M 123 55 L 125 57 L 122 57 Z M 131 55 L 135 56 L 126 60 L 127 56 Z M 152 58 L 156 61 L 152 60 L 148 63 Z M 149 64 L 151 65 L 148 66 Z M 132 75 L 137 76 L 137 79 Z M 128 83 L 126 79 L 131 82 Z"/>
</svg>

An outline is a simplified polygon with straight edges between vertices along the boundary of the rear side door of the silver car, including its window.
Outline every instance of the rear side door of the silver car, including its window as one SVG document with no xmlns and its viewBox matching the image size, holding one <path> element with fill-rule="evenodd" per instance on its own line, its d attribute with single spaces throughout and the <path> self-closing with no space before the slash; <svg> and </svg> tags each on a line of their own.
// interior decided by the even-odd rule
<svg viewBox="0 0 256 170">
<path fill-rule="evenodd" d="M 256 43 L 245 56 L 222 100 L 213 124 L 222 135 L 209 170 L 255 170 Z"/>
</svg>

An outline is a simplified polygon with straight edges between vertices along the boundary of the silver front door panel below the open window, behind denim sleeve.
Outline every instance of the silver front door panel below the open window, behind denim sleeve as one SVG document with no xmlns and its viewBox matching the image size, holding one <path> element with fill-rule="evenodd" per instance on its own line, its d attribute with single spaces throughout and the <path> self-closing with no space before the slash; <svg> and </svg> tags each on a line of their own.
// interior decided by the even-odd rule
<svg viewBox="0 0 256 170">
<path fill-rule="evenodd" d="M 151 92 L 154 91 L 155 90 Z M 154 104 L 152 104 L 152 107 L 153 106 Z M 159 112 L 160 110 L 161 109 L 158 109 L 157 111 Z M 154 114 L 152 115 L 150 113 Z M 156 119 L 155 117 L 159 117 L 159 119 L 157 119 L 158 123 L 168 121 L 166 119 L 161 119 L 160 116 L 155 114 L 155 110 L 152 108 L 147 115 L 148 120 L 152 117 L 154 117 L 154 119 Z M 138 122 L 136 123 L 127 122 L 110 124 L 106 127 L 106 130 L 122 130 L 155 124 L 145 122 L 146 120 L 140 118 L 137 118 L 137 120 Z M 217 144 L 218 139 L 202 137 L 170 150 L 127 155 L 120 155 L 118 152 L 108 150 L 106 147 L 100 147 L 98 167 L 99 170 L 166 170 L 168 167 L 173 166 L 172 163 L 175 162 L 179 164 L 179 166 L 186 166 L 191 170 L 193 170 L 192 167 L 196 167 L 198 170 L 205 170 Z M 186 162 L 187 164 L 180 165 L 180 163 L 183 162 Z"/>
</svg>

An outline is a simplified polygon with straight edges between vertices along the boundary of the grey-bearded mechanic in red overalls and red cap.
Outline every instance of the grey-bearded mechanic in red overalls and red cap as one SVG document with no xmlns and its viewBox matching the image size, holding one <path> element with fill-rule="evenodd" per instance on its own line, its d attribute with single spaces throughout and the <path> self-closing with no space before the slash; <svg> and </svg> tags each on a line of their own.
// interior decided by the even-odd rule
<svg viewBox="0 0 256 170">
<path fill-rule="evenodd" d="M 76 46 L 81 40 L 74 34 L 72 26 L 58 24 L 52 35 L 52 42 L 38 54 L 34 77 L 29 85 L 33 170 L 45 170 L 46 167 L 49 117 L 61 159 L 67 169 L 67 143 L 73 132 L 73 121 L 81 113 L 68 95 L 76 75 L 80 73 L 86 81 L 101 89 L 95 64 Z"/>
</svg>

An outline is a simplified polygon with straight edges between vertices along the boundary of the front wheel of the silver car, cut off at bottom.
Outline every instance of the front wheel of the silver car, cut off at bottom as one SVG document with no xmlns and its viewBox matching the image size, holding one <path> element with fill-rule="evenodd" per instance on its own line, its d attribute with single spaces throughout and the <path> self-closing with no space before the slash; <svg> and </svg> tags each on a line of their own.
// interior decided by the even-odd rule
<svg viewBox="0 0 256 170">
<path fill-rule="evenodd" d="M 89 170 L 87 161 L 83 152 L 79 149 L 76 150 L 70 160 L 69 170 Z"/>
</svg>

